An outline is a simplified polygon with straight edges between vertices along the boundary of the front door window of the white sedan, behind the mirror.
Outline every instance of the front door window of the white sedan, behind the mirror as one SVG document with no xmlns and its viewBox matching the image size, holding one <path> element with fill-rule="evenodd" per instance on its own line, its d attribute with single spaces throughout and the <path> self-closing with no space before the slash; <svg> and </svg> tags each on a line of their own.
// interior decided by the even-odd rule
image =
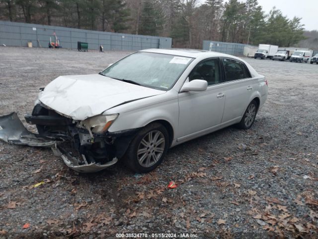
<svg viewBox="0 0 318 239">
<path fill-rule="evenodd" d="M 196 65 L 189 74 L 189 81 L 205 80 L 208 86 L 221 83 L 221 64 L 219 58 L 209 59 Z"/>
</svg>

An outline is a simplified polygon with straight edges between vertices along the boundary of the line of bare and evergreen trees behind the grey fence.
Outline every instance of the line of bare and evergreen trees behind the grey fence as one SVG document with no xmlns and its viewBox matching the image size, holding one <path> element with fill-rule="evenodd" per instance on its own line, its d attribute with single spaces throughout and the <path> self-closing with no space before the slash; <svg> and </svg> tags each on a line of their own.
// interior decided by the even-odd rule
<svg viewBox="0 0 318 239">
<path fill-rule="evenodd" d="M 292 46 L 305 39 L 301 18 L 257 0 L 0 0 L 0 19 L 172 37 L 174 47 L 203 40 Z"/>
</svg>

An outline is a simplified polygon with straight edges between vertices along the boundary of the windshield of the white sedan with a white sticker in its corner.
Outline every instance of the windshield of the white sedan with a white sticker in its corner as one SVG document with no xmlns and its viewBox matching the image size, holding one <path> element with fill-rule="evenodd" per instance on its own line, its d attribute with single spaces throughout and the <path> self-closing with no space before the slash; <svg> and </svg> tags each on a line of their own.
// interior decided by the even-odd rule
<svg viewBox="0 0 318 239">
<path fill-rule="evenodd" d="M 100 74 L 145 87 L 167 90 L 174 85 L 192 60 L 189 57 L 136 52 Z"/>
</svg>

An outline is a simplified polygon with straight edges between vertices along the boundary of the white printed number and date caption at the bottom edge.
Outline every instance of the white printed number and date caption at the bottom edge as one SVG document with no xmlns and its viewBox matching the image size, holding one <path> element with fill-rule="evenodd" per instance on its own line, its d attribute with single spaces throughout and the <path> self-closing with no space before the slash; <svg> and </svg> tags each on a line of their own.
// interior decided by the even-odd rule
<svg viewBox="0 0 318 239">
<path fill-rule="evenodd" d="M 116 238 L 198 238 L 191 233 L 117 233 Z"/>
</svg>

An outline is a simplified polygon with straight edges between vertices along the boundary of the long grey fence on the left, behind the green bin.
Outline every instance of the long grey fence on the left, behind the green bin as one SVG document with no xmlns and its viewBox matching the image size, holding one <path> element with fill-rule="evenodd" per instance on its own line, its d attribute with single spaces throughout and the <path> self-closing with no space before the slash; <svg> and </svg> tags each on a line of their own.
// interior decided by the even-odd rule
<svg viewBox="0 0 318 239">
<path fill-rule="evenodd" d="M 0 21 L 0 45 L 27 46 L 32 42 L 33 47 L 48 47 L 50 36 L 55 41 L 56 33 L 63 48 L 76 48 L 77 42 L 87 42 L 88 49 L 104 50 L 141 50 L 147 48 L 171 48 L 172 39 L 169 37 L 143 36 L 123 33 L 91 31 L 76 28 L 28 24 L 20 22 Z M 39 44 L 39 42 L 40 44 Z"/>
</svg>

